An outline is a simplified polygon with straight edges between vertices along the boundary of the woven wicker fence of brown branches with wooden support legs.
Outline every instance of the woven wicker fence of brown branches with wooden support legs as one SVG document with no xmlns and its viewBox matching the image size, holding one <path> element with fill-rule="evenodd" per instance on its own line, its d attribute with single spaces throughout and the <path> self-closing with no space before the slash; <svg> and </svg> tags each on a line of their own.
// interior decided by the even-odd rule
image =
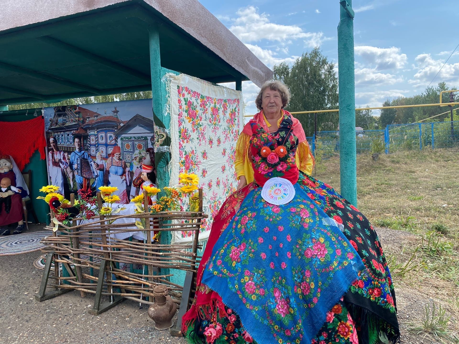
<svg viewBox="0 0 459 344">
<path fill-rule="evenodd" d="M 165 285 L 175 303 L 179 304 L 179 321 L 171 333 L 180 335 L 181 317 L 188 309 L 195 289 L 195 274 L 200 258 L 197 255 L 198 233 L 202 220 L 202 190 L 199 190 L 199 211 L 146 212 L 123 216 L 100 216 L 90 222 L 76 218 L 72 226 L 52 226 L 45 244 L 46 264 L 36 300 L 44 301 L 70 290 L 81 296 L 95 294 L 91 314 L 100 314 L 122 300 L 153 304 L 153 289 Z M 100 198 L 100 195 L 99 195 Z M 73 197 L 72 197 L 73 199 Z M 100 203 L 101 204 L 101 203 Z M 113 223 L 118 219 L 132 222 Z M 115 239 L 116 234 L 132 232 L 139 221 L 143 242 Z M 136 229 L 138 230 L 138 229 Z M 189 245 L 160 244 L 152 241 L 153 231 L 194 231 Z M 54 269 L 52 269 L 54 263 Z M 120 265 L 127 269 L 121 269 Z M 62 266 L 62 270 L 59 268 Z M 174 270 L 186 272 L 185 284 L 170 282 Z"/>
</svg>

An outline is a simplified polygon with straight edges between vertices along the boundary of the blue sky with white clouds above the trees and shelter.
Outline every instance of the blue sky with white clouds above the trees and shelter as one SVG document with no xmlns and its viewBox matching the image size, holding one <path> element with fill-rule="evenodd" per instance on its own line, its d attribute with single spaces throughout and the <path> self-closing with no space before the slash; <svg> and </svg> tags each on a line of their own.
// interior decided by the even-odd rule
<svg viewBox="0 0 459 344">
<path fill-rule="evenodd" d="M 270 68 L 315 45 L 337 63 L 338 0 L 201 3 Z M 357 106 L 419 94 L 459 44 L 457 0 L 354 0 L 353 9 Z M 432 85 L 441 81 L 459 86 L 459 48 Z M 243 83 L 247 114 L 256 111 L 257 91 Z"/>
</svg>

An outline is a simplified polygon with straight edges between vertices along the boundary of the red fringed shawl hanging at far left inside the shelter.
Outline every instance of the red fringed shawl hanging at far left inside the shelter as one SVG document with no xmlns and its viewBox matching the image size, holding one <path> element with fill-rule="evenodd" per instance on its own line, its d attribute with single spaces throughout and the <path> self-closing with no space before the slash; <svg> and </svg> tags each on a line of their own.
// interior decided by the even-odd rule
<svg viewBox="0 0 459 344">
<path fill-rule="evenodd" d="M 42 116 L 22 122 L 0 122 L 0 155 L 11 155 L 20 171 L 35 150 L 39 150 L 40 159 L 44 160 L 45 147 L 45 119 Z"/>
</svg>

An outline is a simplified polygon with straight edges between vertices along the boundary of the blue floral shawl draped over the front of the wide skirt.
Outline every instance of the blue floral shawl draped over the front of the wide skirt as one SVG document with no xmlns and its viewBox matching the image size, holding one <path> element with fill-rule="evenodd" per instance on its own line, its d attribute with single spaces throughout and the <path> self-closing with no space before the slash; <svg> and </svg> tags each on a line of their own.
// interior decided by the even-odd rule
<svg viewBox="0 0 459 344">
<path fill-rule="evenodd" d="M 301 197 L 297 194 L 289 206 L 271 205 L 260 188 L 253 190 L 215 244 L 202 277 L 210 289 L 239 296 L 254 319 L 283 343 L 301 342 L 303 319 L 324 299 L 330 276 L 353 269 L 346 255 L 353 247 L 338 229 L 318 226 L 318 208 Z M 315 230 L 304 231 L 304 223 Z M 294 284 L 285 278 L 289 271 Z"/>
</svg>

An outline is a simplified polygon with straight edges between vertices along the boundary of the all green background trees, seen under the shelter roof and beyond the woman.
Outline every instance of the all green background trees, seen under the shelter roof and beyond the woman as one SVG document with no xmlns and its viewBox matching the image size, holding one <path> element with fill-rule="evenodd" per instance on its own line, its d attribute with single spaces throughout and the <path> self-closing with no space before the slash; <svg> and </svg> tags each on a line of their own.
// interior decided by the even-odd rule
<svg viewBox="0 0 459 344">
<path fill-rule="evenodd" d="M 336 78 L 335 64 L 328 61 L 319 48 L 305 52 L 292 66 L 282 62 L 273 67 L 276 80 L 285 83 L 291 92 L 291 100 L 286 110 L 313 111 L 329 110 L 338 108 L 338 79 Z M 440 101 L 440 92 L 448 89 L 456 89 L 441 82 L 437 87 L 428 87 L 421 94 L 411 97 L 398 97 L 386 100 L 382 106 L 434 104 Z M 82 97 L 63 100 L 59 103 L 32 103 L 26 105 L 10 105 L 10 110 L 27 108 L 41 108 L 47 106 L 74 105 L 103 103 L 118 100 L 136 100 L 151 98 L 151 91 L 141 91 L 123 94 L 100 95 L 94 97 Z M 458 97 L 454 98 L 457 99 Z M 449 94 L 443 94 L 443 102 L 449 102 Z M 368 107 L 368 106 L 367 106 Z M 381 115 L 376 117 L 372 110 L 365 109 L 356 111 L 356 127 L 369 129 L 384 129 L 387 124 L 412 123 L 436 116 L 449 111 L 448 107 L 429 106 L 401 109 L 382 109 Z M 296 116 L 302 123 L 306 136 L 314 133 L 314 114 L 300 114 Z M 424 122 L 449 121 L 449 113 L 427 119 Z M 454 120 L 459 120 L 454 111 Z M 338 112 L 325 112 L 317 115 L 318 131 L 334 131 L 338 129 Z"/>
</svg>

